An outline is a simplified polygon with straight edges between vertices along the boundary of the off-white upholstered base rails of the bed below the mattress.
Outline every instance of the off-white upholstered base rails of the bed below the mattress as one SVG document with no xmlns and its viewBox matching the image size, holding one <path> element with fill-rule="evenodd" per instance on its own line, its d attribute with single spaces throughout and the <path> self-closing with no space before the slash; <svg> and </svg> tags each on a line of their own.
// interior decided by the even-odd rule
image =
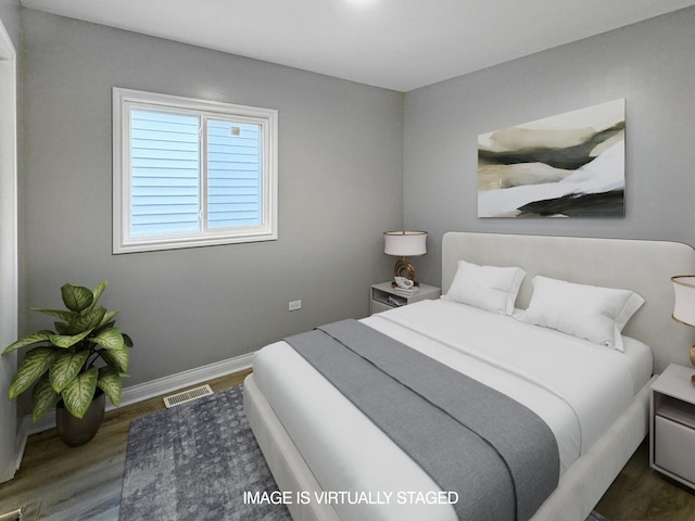
<svg viewBox="0 0 695 521">
<path fill-rule="evenodd" d="M 608 432 L 565 472 L 531 521 L 582 521 L 589 516 L 647 434 L 653 381 L 642 387 Z M 256 385 L 253 373 L 244 380 L 243 393 L 247 418 L 280 490 L 320 492 L 320 484 Z M 329 505 L 293 504 L 288 508 L 294 521 L 340 521 Z"/>
</svg>

